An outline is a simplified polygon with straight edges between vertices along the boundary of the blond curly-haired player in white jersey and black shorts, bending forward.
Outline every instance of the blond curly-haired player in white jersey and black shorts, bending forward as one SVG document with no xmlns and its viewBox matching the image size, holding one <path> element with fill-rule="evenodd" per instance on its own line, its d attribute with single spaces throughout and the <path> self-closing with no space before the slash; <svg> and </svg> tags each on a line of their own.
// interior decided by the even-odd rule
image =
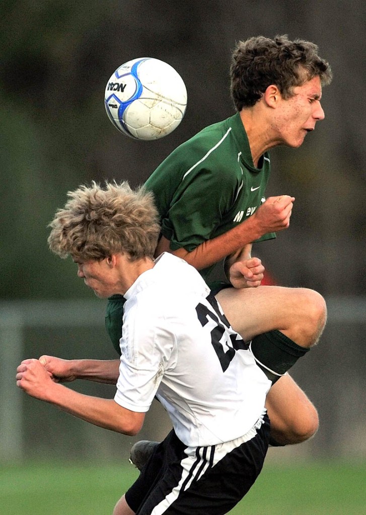
<svg viewBox="0 0 366 515">
<path fill-rule="evenodd" d="M 72 256 L 98 297 L 127 299 L 121 358 L 26 359 L 17 385 L 127 435 L 141 430 L 157 397 L 173 430 L 113 514 L 227 513 L 262 468 L 270 437 L 268 369 L 284 373 L 287 348 L 275 354 L 280 371 L 272 357 L 257 365 L 255 351 L 232 330 L 196 269 L 169 253 L 154 260 L 160 226 L 151 193 L 127 183 L 105 189 L 93 183 L 69 196 L 51 224 L 49 247 Z M 61 384 L 75 379 L 115 384 L 115 397 L 86 396 Z"/>
</svg>

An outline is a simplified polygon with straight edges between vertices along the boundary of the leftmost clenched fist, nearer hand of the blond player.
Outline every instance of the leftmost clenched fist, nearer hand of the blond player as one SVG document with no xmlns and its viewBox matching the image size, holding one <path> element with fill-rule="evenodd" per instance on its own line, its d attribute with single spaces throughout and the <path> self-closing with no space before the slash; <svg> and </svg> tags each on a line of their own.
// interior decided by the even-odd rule
<svg viewBox="0 0 366 515">
<path fill-rule="evenodd" d="M 25 359 L 16 369 L 16 386 L 28 395 L 47 400 L 49 387 L 52 385 L 51 377 L 38 359 Z"/>
</svg>

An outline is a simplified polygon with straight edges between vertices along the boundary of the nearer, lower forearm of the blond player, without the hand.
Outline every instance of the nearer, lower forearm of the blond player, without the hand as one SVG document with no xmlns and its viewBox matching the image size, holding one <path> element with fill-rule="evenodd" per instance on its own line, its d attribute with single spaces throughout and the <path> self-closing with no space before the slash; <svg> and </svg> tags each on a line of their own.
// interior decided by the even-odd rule
<svg viewBox="0 0 366 515">
<path fill-rule="evenodd" d="M 74 417 L 125 435 L 136 435 L 144 419 L 143 413 L 123 408 L 113 399 L 87 396 L 59 383 L 52 383 L 43 400 Z"/>
</svg>

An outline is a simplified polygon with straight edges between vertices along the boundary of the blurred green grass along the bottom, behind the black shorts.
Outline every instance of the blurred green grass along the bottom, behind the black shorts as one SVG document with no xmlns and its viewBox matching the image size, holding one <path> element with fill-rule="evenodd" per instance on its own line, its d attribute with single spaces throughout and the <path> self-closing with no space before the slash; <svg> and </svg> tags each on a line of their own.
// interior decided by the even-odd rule
<svg viewBox="0 0 366 515">
<path fill-rule="evenodd" d="M 132 466 L 0 466 L 1 515 L 110 515 L 137 477 Z M 360 515 L 366 464 L 265 465 L 230 515 Z M 187 515 L 189 515 L 187 513 Z"/>
</svg>

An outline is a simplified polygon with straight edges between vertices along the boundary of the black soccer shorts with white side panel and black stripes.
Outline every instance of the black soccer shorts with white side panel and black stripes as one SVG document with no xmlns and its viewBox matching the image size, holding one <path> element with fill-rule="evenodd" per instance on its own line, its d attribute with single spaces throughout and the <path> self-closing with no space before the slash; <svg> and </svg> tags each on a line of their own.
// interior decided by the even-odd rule
<svg viewBox="0 0 366 515">
<path fill-rule="evenodd" d="M 172 430 L 126 492 L 126 502 L 137 515 L 224 515 L 257 479 L 269 436 L 267 414 L 243 437 L 209 447 L 187 447 Z"/>
</svg>

